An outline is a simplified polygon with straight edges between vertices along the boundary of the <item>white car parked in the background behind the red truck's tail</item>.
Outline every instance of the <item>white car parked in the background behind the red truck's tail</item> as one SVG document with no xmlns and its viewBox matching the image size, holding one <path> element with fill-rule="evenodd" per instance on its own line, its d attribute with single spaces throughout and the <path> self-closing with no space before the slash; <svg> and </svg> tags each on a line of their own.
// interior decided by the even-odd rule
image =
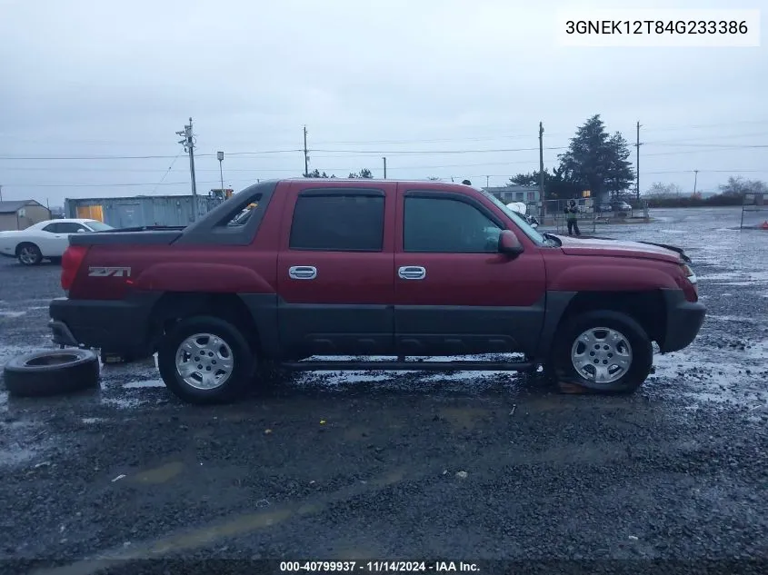
<svg viewBox="0 0 768 575">
<path fill-rule="evenodd" d="M 69 245 L 70 233 L 92 233 L 114 230 L 96 220 L 46 220 L 25 230 L 0 232 L 0 255 L 18 258 L 24 265 L 37 265 L 43 258 L 57 259 Z"/>
</svg>

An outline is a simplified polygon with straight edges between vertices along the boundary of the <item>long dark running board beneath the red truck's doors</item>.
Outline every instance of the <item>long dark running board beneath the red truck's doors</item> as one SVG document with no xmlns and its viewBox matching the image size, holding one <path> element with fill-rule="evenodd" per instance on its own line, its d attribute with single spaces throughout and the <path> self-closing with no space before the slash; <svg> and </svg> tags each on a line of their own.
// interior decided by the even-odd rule
<svg viewBox="0 0 768 575">
<path fill-rule="evenodd" d="M 526 372 L 533 362 L 286 362 L 281 367 L 297 372 Z"/>
</svg>

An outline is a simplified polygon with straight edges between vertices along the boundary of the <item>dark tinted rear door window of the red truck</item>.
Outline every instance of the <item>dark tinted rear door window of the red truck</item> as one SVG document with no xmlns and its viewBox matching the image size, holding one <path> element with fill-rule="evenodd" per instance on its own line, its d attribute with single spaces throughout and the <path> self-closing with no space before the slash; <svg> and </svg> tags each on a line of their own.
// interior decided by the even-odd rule
<svg viewBox="0 0 768 575">
<path fill-rule="evenodd" d="M 303 193 L 294 207 L 289 247 L 323 252 L 381 252 L 384 193 Z"/>
</svg>

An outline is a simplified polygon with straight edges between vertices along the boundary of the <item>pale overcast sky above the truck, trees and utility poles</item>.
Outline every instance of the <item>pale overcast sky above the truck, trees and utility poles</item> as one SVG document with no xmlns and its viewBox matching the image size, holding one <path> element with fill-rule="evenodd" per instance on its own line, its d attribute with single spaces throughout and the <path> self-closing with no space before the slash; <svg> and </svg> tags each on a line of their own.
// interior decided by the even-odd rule
<svg viewBox="0 0 768 575">
<path fill-rule="evenodd" d="M 300 175 L 304 124 L 310 169 L 345 176 L 368 167 L 381 177 L 385 155 L 390 178 L 485 185 L 487 175 L 501 185 L 538 168 L 539 121 L 544 146 L 559 148 L 593 114 L 632 144 L 643 125 L 643 191 L 657 181 L 693 190 L 695 169 L 703 191 L 731 174 L 768 180 L 768 148 L 745 147 L 768 144 L 764 40 L 564 47 L 555 25 L 565 5 L 586 15 L 600 3 L 0 0 L 3 197 L 56 205 L 189 193 L 175 134 L 189 116 L 198 193 L 219 187 L 217 150 L 235 190 Z M 738 7 L 761 5 L 766 30 L 765 0 Z M 544 165 L 561 152 L 545 149 Z M 60 156 L 70 159 L 45 159 Z"/>
</svg>

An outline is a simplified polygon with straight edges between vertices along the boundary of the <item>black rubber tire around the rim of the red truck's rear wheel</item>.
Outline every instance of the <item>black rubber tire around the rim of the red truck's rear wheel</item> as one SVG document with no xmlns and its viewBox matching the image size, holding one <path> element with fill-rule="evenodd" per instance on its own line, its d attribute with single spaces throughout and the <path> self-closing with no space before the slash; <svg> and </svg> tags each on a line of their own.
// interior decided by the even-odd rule
<svg viewBox="0 0 768 575">
<path fill-rule="evenodd" d="M 232 353 L 233 369 L 229 377 L 213 389 L 194 387 L 185 382 L 176 369 L 176 352 L 179 352 L 180 346 L 187 338 L 197 333 L 219 337 Z M 209 362 L 215 361 L 205 357 L 206 365 L 203 369 L 214 369 Z M 192 317 L 176 323 L 171 331 L 165 334 L 157 352 L 157 365 L 165 386 L 183 401 L 198 405 L 234 402 L 242 397 L 254 374 L 254 363 L 254 354 L 243 334 L 232 323 L 209 316 Z"/>
</svg>

